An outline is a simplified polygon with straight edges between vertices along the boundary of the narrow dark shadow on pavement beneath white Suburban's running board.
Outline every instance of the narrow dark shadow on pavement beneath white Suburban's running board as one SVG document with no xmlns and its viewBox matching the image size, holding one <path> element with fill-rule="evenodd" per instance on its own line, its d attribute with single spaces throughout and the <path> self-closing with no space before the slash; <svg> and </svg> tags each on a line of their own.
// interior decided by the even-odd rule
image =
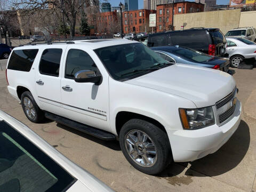
<svg viewBox="0 0 256 192">
<path fill-rule="evenodd" d="M 99 143 L 100 145 L 102 146 L 105 146 L 105 147 L 108 147 L 110 149 L 113 149 L 113 150 L 121 150 L 120 146 L 119 146 L 119 142 L 117 140 L 114 140 L 114 141 L 105 141 L 105 140 L 101 140 L 101 139 L 98 139 L 98 138 L 95 138 L 89 134 L 86 134 L 86 133 L 83 133 L 81 131 L 77 131 L 75 129 L 72 129 L 68 126 L 65 126 L 65 125 L 62 125 L 60 123 L 57 123 L 57 126 L 60 127 L 61 129 L 65 129 L 66 131 L 69 131 L 71 133 L 74 133 L 74 134 L 77 134 L 85 139 L 89 139 L 93 142 L 97 142 Z"/>
</svg>

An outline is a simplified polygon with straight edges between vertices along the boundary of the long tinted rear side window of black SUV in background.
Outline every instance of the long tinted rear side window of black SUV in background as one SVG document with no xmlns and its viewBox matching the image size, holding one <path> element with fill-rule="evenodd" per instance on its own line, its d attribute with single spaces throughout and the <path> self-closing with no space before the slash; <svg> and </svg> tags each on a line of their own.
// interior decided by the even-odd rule
<svg viewBox="0 0 256 192">
<path fill-rule="evenodd" d="M 171 45 L 180 45 L 195 50 L 207 51 L 209 42 L 204 30 L 170 33 Z"/>
</svg>

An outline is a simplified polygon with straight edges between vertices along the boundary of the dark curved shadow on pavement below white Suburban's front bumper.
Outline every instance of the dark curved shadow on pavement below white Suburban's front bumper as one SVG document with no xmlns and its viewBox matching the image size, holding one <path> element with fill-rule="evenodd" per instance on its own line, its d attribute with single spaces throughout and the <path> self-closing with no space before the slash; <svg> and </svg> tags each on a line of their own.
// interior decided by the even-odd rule
<svg viewBox="0 0 256 192">
<path fill-rule="evenodd" d="M 185 175 L 193 175 L 195 177 L 213 177 L 226 173 L 234 169 L 243 160 L 247 150 L 249 149 L 249 145 L 249 126 L 242 120 L 233 136 L 218 151 L 194 162 L 189 162 L 191 166 L 186 171 Z M 178 175 L 185 169 L 185 167 L 187 167 L 187 165 L 188 162 L 178 163 L 178 166 L 177 163 L 174 163 L 174 165 L 172 164 L 167 167 L 167 169 L 164 170 L 162 174 L 158 175 L 158 177 L 173 177 Z M 175 170 L 173 170 L 174 166 Z M 193 174 L 191 175 L 192 172 Z"/>
</svg>

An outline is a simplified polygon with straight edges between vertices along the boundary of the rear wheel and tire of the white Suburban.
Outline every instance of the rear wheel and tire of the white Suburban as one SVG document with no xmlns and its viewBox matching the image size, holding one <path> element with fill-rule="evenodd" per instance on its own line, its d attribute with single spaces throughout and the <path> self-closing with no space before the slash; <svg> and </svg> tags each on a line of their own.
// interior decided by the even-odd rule
<svg viewBox="0 0 256 192">
<path fill-rule="evenodd" d="M 44 119 L 43 111 L 37 106 L 36 101 L 29 91 L 21 94 L 21 105 L 29 121 L 39 123 Z"/>
</svg>

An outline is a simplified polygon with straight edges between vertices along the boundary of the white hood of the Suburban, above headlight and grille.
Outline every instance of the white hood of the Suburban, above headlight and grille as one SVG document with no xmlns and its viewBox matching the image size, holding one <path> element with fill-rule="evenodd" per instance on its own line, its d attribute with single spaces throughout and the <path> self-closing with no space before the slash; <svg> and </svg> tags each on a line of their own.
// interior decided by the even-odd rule
<svg viewBox="0 0 256 192">
<path fill-rule="evenodd" d="M 184 64 L 165 67 L 125 83 L 186 98 L 198 108 L 215 105 L 236 86 L 234 78 L 225 72 Z"/>
</svg>

